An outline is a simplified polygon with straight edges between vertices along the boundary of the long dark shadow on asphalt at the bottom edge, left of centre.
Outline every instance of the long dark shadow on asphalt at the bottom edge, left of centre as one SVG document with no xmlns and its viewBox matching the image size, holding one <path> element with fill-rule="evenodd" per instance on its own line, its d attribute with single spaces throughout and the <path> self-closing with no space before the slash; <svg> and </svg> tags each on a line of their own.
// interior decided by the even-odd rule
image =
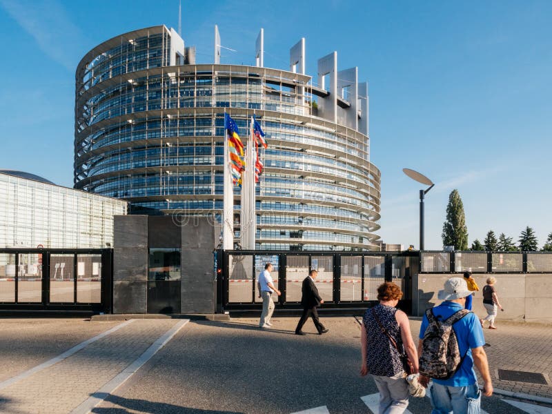
<svg viewBox="0 0 552 414">
<path fill-rule="evenodd" d="M 95 395 L 96 394 L 90 394 L 91 397 L 94 397 Z M 201 408 L 177 406 L 166 402 L 152 402 L 148 400 L 137 400 L 135 398 L 124 398 L 119 397 L 118 395 L 108 395 L 106 401 L 124 408 L 96 407 L 92 408 L 92 411 L 90 412 L 95 414 L 130 414 L 135 411 L 148 414 L 244 414 L 237 411 L 201 410 Z M 127 408 L 132 411 L 128 411 Z"/>
</svg>

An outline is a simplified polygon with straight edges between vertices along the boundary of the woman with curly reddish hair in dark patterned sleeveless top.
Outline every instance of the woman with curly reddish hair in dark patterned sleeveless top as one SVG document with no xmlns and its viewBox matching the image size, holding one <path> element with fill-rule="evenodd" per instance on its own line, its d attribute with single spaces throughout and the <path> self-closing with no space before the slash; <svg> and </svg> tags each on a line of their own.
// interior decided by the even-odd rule
<svg viewBox="0 0 552 414">
<path fill-rule="evenodd" d="M 401 297 L 399 286 L 382 284 L 377 288 L 380 304 L 366 310 L 362 320 L 360 375 L 372 375 L 380 391 L 380 414 L 404 413 L 408 406 L 408 382 L 401 353 L 406 351 L 413 373 L 418 372 L 418 355 L 408 317 L 395 307 Z"/>
</svg>

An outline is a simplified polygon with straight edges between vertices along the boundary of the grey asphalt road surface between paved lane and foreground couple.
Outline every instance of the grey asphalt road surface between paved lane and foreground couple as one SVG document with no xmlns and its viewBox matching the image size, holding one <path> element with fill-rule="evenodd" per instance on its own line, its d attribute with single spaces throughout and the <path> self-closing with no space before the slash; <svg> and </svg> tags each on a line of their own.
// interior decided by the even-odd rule
<svg viewBox="0 0 552 414">
<path fill-rule="evenodd" d="M 257 319 L 190 322 L 146 366 L 92 413 L 282 413 L 326 406 L 331 414 L 370 413 L 360 397 L 377 393 L 359 376 L 359 326 L 353 317 L 326 318 L 326 335 L 308 322 L 276 318 L 270 331 Z M 411 399 L 429 413 L 428 398 Z M 489 414 L 524 413 L 500 397 L 484 397 Z"/>
</svg>

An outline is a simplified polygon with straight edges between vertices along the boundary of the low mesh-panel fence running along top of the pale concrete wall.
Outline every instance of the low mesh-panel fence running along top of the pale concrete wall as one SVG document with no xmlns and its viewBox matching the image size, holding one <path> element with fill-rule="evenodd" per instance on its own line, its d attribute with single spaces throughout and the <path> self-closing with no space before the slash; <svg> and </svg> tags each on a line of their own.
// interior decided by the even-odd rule
<svg viewBox="0 0 552 414">
<path fill-rule="evenodd" d="M 422 273 L 552 273 L 552 252 L 423 251 Z"/>
</svg>

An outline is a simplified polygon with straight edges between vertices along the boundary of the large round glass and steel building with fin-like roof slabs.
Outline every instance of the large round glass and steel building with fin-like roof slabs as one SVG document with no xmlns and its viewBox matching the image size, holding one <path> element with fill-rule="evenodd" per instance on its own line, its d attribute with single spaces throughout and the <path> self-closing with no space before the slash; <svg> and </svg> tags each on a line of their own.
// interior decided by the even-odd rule
<svg viewBox="0 0 552 414">
<path fill-rule="evenodd" d="M 155 26 L 121 34 L 77 67 L 75 188 L 130 201 L 130 213 L 215 215 L 223 209 L 224 112 L 245 141 L 255 115 L 266 132 L 256 188 L 257 249 L 379 250 L 380 171 L 370 162 L 368 85 L 337 52 L 306 75 L 305 40 L 288 70 L 213 63 Z M 239 188 L 235 188 L 239 239 Z"/>
</svg>

